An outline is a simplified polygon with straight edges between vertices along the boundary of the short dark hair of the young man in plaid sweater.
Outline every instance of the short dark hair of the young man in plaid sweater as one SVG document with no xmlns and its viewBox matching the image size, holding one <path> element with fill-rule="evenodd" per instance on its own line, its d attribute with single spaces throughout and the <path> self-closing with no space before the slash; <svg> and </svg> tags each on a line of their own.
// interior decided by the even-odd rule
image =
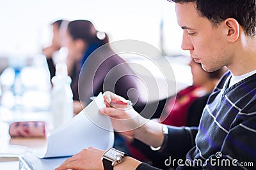
<svg viewBox="0 0 256 170">
<path fill-rule="evenodd" d="M 227 18 L 234 18 L 248 36 L 255 36 L 255 0 L 168 0 L 174 3 L 195 3 L 198 13 L 217 26 Z"/>
</svg>

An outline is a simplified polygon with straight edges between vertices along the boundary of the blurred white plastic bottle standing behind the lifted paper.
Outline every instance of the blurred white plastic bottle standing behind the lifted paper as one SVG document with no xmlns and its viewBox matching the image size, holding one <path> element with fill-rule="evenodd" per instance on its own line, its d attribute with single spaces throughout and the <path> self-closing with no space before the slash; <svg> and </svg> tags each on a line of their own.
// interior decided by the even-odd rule
<svg viewBox="0 0 256 170">
<path fill-rule="evenodd" d="M 73 94 L 71 78 L 65 63 L 56 64 L 56 75 L 52 78 L 52 123 L 54 129 L 67 124 L 73 118 Z"/>
</svg>

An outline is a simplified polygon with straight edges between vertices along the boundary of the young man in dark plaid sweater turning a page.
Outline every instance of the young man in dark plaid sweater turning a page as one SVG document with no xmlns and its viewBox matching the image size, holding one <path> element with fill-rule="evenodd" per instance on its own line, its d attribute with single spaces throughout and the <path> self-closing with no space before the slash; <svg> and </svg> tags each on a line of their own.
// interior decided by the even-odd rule
<svg viewBox="0 0 256 170">
<path fill-rule="evenodd" d="M 230 70 L 209 97 L 199 127 L 168 126 L 167 132 L 164 125 L 145 120 L 132 109 L 108 107 L 102 113 L 113 117 L 116 131 L 147 145 L 161 146 L 159 152 L 170 155 L 163 164 L 172 166 L 176 161 L 178 169 L 255 169 L 255 0 L 173 1 L 184 31 L 182 49 L 189 50 L 205 71 L 223 66 Z M 116 100 L 114 94 L 105 97 L 106 101 Z M 155 169 L 131 157 L 113 167 L 105 161 L 103 167 L 103 153 L 96 148 L 84 149 L 57 169 Z M 186 160 L 178 159 L 185 155 Z"/>
</svg>

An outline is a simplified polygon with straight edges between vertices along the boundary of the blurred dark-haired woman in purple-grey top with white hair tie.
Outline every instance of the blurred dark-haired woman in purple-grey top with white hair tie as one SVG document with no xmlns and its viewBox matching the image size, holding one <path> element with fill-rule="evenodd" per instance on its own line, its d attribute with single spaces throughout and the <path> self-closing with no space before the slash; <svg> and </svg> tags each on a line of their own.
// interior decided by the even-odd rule
<svg viewBox="0 0 256 170">
<path fill-rule="evenodd" d="M 66 38 L 67 63 L 74 65 L 71 84 L 74 113 L 79 113 L 90 103 L 90 97 L 106 90 L 140 104 L 140 96 L 133 93 L 138 90 L 136 76 L 108 45 L 106 33 L 97 31 L 88 20 L 73 20 L 68 24 Z"/>
</svg>

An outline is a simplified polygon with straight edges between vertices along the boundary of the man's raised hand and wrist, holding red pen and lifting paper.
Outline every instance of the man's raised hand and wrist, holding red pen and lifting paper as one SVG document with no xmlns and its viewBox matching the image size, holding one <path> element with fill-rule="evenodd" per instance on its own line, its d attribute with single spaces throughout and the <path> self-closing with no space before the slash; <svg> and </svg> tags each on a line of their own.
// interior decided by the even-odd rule
<svg viewBox="0 0 256 170">
<path fill-rule="evenodd" d="M 123 105 L 121 108 L 111 106 L 111 101 L 125 102 L 123 97 L 117 96 L 112 92 L 104 92 L 103 97 L 107 108 L 100 110 L 100 113 L 111 118 L 116 132 L 122 132 L 122 134 L 129 137 L 139 139 L 147 145 L 161 146 L 164 139 L 161 124 L 142 117 L 131 106 Z"/>
</svg>

